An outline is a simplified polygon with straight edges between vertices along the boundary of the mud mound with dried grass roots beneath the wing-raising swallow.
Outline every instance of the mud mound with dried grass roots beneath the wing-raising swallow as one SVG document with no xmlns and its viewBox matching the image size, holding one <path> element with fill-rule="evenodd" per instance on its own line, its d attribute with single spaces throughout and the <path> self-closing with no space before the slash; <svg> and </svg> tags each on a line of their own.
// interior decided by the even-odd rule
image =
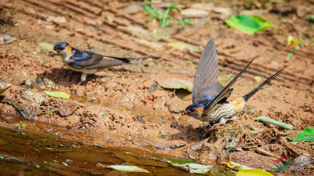
<svg viewBox="0 0 314 176">
<path fill-rule="evenodd" d="M 310 158 L 312 155 L 309 148 L 285 141 L 277 128 L 252 131 L 242 127 L 238 122 L 228 121 L 204 135 L 208 138 L 191 146 L 197 152 L 194 155 L 197 155 L 199 161 L 204 164 L 215 165 L 217 162 L 231 161 L 250 168 L 263 168 L 274 172 L 269 167 L 279 168 L 283 163 L 273 160 L 282 156 L 296 158 L 305 154 Z"/>
</svg>

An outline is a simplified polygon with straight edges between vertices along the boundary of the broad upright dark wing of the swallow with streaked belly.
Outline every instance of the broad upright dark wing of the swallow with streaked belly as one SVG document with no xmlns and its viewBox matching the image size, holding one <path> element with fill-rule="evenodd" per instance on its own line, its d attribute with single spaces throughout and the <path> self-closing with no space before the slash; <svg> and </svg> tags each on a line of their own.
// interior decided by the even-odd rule
<svg viewBox="0 0 314 176">
<path fill-rule="evenodd" d="M 218 82 L 218 59 L 215 42 L 214 39 L 210 39 L 198 63 L 193 82 L 192 101 L 193 103 L 209 103 L 223 89 L 224 87 Z"/>
</svg>

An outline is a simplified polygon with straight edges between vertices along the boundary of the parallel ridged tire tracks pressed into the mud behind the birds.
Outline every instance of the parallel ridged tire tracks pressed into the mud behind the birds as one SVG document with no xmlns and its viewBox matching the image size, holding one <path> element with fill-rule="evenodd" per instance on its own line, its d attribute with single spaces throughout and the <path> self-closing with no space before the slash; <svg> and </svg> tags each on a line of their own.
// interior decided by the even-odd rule
<svg viewBox="0 0 314 176">
<path fill-rule="evenodd" d="M 94 39 L 106 44 L 112 44 L 121 49 L 138 53 L 141 55 L 157 55 L 163 60 L 171 61 L 180 65 L 187 65 L 187 62 L 191 60 L 194 64 L 197 64 L 201 56 L 201 52 L 190 52 L 189 50 L 174 50 L 169 46 L 163 48 L 153 48 L 146 44 L 140 44 L 135 42 L 135 39 L 145 39 L 149 42 L 155 42 L 153 39 L 148 39 L 140 35 L 131 34 L 120 26 L 135 26 L 138 28 L 148 29 L 149 26 L 144 21 L 133 18 L 131 15 L 126 14 L 121 9 L 114 9 L 108 3 L 109 1 L 96 2 L 92 0 L 17 0 L 17 1 L 4 1 L 2 5 L 4 8 L 16 8 L 19 12 L 24 13 L 27 16 L 36 19 L 43 19 L 39 13 L 33 13 L 27 10 L 25 7 L 31 7 L 35 12 L 45 12 L 46 15 L 52 16 L 65 16 L 68 24 L 60 24 L 54 30 L 61 29 L 73 30 L 76 28 L 84 28 L 83 31 L 76 31 L 76 36 L 82 38 Z M 107 16 L 111 16 L 111 20 L 106 19 Z M 89 25 L 98 28 L 99 31 L 95 33 L 91 29 L 88 29 Z M 274 41 L 259 41 L 252 39 L 251 37 L 244 37 L 248 42 L 258 42 L 266 47 L 274 48 Z M 176 34 L 170 37 L 170 39 L 163 39 L 162 42 L 177 42 L 183 41 L 192 45 L 204 45 L 199 41 L 194 41 L 185 38 L 183 35 Z M 276 45 L 278 49 L 289 51 L 287 47 Z M 172 50 L 171 50 L 172 49 Z M 169 52 L 171 50 L 171 52 Z M 309 52 L 294 51 L 296 54 L 300 54 L 303 57 L 309 57 L 314 60 L 314 54 Z M 221 70 L 239 72 L 249 62 L 249 59 L 239 59 L 236 54 L 228 54 L 228 51 L 217 47 L 217 53 L 219 55 L 219 65 Z M 222 57 L 221 57 L 222 56 Z M 223 59 L 221 59 L 223 58 Z M 273 75 L 274 71 L 278 69 L 273 68 L 272 65 L 265 65 L 261 63 L 253 62 L 250 68 L 247 69 L 244 77 L 253 78 L 254 75 L 261 75 L 263 73 L 265 77 Z M 314 79 L 311 76 L 294 73 L 287 70 L 280 74 L 275 83 L 283 85 L 289 88 L 298 90 L 312 89 Z"/>
</svg>

